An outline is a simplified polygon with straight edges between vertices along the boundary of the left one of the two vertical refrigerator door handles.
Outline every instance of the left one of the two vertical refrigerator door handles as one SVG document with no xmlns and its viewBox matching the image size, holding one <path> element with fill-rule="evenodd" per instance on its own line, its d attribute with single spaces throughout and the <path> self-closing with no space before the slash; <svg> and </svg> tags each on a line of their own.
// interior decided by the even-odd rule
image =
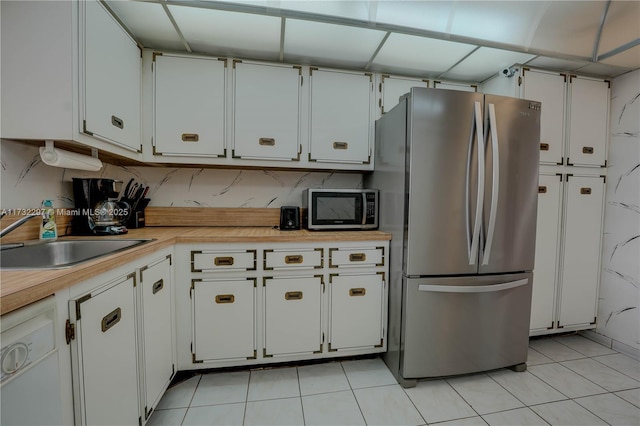
<svg viewBox="0 0 640 426">
<path fill-rule="evenodd" d="M 482 224 L 482 200 L 484 199 L 484 131 L 482 128 L 482 105 L 479 101 L 474 102 L 474 124 L 476 128 L 476 138 L 478 140 L 478 193 L 476 198 L 476 212 L 473 225 L 473 234 L 471 235 L 471 241 L 469 241 L 469 229 L 471 228 L 469 218 L 469 173 L 471 171 L 471 153 L 473 151 L 473 130 L 469 137 L 469 153 L 467 156 L 467 187 L 466 187 L 466 200 L 467 200 L 467 244 L 469 246 L 469 265 L 475 265 L 478 259 L 478 250 L 480 246 L 480 226 Z"/>
</svg>

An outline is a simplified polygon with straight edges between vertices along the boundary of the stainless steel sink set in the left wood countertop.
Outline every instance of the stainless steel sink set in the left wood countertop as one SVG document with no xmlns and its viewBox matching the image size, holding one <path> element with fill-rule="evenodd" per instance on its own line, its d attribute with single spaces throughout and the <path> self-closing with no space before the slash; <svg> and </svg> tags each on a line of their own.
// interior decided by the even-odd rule
<svg viewBox="0 0 640 426">
<path fill-rule="evenodd" d="M 152 239 L 67 240 L 24 244 L 0 252 L 0 269 L 62 269 L 126 250 Z"/>
</svg>

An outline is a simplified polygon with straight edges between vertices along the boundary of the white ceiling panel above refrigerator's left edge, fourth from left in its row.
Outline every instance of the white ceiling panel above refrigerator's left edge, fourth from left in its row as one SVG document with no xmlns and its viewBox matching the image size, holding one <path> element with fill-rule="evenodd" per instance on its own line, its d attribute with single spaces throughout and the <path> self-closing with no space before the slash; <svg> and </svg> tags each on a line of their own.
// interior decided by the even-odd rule
<svg viewBox="0 0 640 426">
<path fill-rule="evenodd" d="M 470 44 L 391 34 L 371 68 L 390 68 L 397 73 L 436 76 L 451 68 L 475 48 Z"/>
</svg>

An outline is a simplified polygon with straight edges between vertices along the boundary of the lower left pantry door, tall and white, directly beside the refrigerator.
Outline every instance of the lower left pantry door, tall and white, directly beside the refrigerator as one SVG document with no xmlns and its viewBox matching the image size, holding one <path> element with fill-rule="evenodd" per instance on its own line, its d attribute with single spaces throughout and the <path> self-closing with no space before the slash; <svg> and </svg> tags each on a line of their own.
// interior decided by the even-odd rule
<svg viewBox="0 0 640 426">
<path fill-rule="evenodd" d="M 562 176 L 540 175 L 531 330 L 553 327 L 562 209 Z"/>
</svg>

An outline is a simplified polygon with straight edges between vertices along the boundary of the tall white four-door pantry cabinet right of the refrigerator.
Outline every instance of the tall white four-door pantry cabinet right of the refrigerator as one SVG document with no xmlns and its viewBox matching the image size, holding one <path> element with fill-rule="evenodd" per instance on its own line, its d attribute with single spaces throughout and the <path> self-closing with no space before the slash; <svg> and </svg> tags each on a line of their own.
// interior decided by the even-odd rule
<svg viewBox="0 0 640 426">
<path fill-rule="evenodd" d="M 522 67 L 486 93 L 542 102 L 530 334 L 595 328 L 609 132 L 608 81 Z"/>
</svg>

